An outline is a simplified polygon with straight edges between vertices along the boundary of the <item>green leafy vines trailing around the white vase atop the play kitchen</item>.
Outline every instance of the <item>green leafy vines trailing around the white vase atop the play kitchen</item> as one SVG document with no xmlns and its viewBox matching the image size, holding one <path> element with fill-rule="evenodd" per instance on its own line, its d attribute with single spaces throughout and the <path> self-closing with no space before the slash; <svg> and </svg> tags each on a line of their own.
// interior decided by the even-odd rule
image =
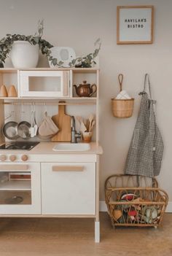
<svg viewBox="0 0 172 256">
<path fill-rule="evenodd" d="M 51 55 L 50 48 L 53 47 L 50 42 L 42 39 L 44 31 L 44 23 L 43 20 L 39 20 L 38 23 L 38 31 L 34 36 L 25 36 L 20 34 L 7 34 L 4 38 L 0 40 L 0 67 L 4 67 L 4 63 L 6 59 L 9 57 L 9 53 L 12 50 L 12 44 L 15 41 L 28 41 L 30 44 L 38 44 L 39 50 L 41 50 L 42 54 L 46 56 L 47 60 L 52 63 L 53 66 L 63 67 L 63 61 L 58 61 L 57 58 L 53 58 Z M 70 67 L 82 67 L 82 68 L 90 68 L 96 64 L 95 58 L 97 57 L 99 50 L 101 49 L 101 40 L 97 39 L 95 42 L 95 48 L 93 53 L 89 53 L 85 57 L 78 57 L 72 60 L 69 63 Z"/>
</svg>

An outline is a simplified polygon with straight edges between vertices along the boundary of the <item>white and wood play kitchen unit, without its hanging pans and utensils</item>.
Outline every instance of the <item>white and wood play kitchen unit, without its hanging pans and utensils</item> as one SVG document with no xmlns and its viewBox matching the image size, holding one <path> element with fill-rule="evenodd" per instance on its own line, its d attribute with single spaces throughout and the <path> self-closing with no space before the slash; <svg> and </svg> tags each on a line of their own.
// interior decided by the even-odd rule
<svg viewBox="0 0 172 256">
<path fill-rule="evenodd" d="M 92 97 L 78 97 L 74 92 L 73 85 L 85 79 L 97 85 Z M 99 70 L 0 69 L 0 85 L 7 89 L 15 85 L 17 90 L 17 97 L 0 98 L 1 128 L 6 109 L 15 105 L 46 104 L 51 109 L 65 105 L 70 115 L 84 115 L 88 108 L 95 114 L 93 141 L 86 147 L 79 146 L 82 143 L 72 147 L 70 142 L 57 147 L 60 142 L 38 138 L 39 144 L 29 151 L 0 150 L 0 217 L 93 218 L 95 242 L 99 242 Z M 1 145 L 9 142 L 3 133 L 0 139 Z"/>
</svg>

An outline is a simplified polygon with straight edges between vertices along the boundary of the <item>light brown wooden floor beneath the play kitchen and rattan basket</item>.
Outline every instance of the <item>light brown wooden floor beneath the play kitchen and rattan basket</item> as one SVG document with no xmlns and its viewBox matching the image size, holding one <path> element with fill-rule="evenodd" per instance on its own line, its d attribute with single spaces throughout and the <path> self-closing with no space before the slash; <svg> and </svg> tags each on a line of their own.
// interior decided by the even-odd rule
<svg viewBox="0 0 172 256">
<path fill-rule="evenodd" d="M 172 214 L 160 228 L 112 229 L 101 213 L 101 243 L 92 219 L 1 218 L 0 256 L 171 256 Z"/>
</svg>

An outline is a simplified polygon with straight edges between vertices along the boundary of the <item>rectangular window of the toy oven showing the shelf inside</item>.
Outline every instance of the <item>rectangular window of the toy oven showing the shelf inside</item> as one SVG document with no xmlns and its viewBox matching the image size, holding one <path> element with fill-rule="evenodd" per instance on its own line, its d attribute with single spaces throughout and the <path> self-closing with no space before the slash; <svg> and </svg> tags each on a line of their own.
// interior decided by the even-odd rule
<svg viewBox="0 0 172 256">
<path fill-rule="evenodd" d="M 0 204 L 31 204 L 31 171 L 0 171 Z"/>
</svg>

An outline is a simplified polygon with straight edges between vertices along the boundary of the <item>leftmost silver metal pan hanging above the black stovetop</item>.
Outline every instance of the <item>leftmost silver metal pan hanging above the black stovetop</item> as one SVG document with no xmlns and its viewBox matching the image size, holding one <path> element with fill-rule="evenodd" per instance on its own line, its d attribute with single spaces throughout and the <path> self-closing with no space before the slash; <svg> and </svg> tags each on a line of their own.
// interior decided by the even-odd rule
<svg viewBox="0 0 172 256">
<path fill-rule="evenodd" d="M 17 123 L 14 121 L 5 123 L 2 132 L 7 139 L 17 139 L 19 137 L 17 134 Z"/>
</svg>

